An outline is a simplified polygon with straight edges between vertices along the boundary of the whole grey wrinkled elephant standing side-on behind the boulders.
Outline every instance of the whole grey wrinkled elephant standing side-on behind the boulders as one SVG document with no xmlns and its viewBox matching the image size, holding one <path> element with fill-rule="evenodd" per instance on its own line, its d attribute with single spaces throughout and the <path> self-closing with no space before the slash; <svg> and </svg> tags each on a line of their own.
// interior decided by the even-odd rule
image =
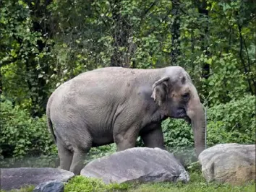
<svg viewBox="0 0 256 192">
<path fill-rule="evenodd" d="M 162 69 L 107 67 L 61 84 L 48 100 L 48 127 L 54 135 L 60 168 L 80 174 L 91 147 L 116 143 L 165 149 L 161 121 L 191 122 L 197 156 L 205 149 L 205 114 L 189 74 L 179 66 Z M 54 127 L 54 129 L 53 129 Z"/>
</svg>

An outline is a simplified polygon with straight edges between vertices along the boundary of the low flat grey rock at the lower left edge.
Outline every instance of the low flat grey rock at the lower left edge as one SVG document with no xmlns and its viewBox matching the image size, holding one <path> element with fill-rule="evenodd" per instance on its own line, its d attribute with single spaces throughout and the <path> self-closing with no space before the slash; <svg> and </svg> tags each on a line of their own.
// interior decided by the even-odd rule
<svg viewBox="0 0 256 192">
<path fill-rule="evenodd" d="M 4 168 L 1 169 L 1 189 L 19 189 L 27 185 L 38 186 L 40 183 L 51 180 L 67 182 L 73 176 L 74 173 L 67 170 L 51 167 Z"/>
</svg>

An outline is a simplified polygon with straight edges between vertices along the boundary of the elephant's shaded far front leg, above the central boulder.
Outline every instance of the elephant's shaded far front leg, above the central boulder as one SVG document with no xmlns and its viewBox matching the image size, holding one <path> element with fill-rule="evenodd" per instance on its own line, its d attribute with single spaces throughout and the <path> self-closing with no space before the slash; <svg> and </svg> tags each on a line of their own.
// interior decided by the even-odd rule
<svg viewBox="0 0 256 192">
<path fill-rule="evenodd" d="M 145 128 L 140 134 L 145 147 L 158 147 L 161 149 L 166 149 L 163 141 L 163 131 L 161 125 L 153 125 Z"/>
</svg>

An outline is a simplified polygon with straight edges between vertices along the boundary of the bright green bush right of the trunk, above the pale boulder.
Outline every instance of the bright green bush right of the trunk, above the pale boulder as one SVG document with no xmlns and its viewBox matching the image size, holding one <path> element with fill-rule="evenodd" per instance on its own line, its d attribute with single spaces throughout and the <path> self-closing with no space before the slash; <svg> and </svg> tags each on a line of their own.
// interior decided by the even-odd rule
<svg viewBox="0 0 256 192">
<path fill-rule="evenodd" d="M 254 144 L 255 127 L 255 96 L 245 95 L 241 100 L 215 105 L 208 111 L 208 145 Z"/>
</svg>

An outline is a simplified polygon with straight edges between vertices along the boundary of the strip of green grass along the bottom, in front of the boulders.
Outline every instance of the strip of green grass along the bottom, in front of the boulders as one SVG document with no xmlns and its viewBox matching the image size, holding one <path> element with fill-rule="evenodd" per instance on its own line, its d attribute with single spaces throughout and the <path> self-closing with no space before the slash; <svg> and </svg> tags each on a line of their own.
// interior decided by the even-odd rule
<svg viewBox="0 0 256 192">
<path fill-rule="evenodd" d="M 33 186 L 22 188 L 19 192 L 32 192 Z M 190 173 L 190 181 L 185 184 L 159 182 L 144 184 L 111 183 L 104 184 L 101 180 L 76 176 L 65 184 L 64 192 L 255 192 L 255 182 L 243 186 L 229 184 L 206 183 L 200 172 Z M 0 190 L 0 192 L 5 192 Z M 11 192 L 16 192 L 12 190 Z"/>
</svg>

